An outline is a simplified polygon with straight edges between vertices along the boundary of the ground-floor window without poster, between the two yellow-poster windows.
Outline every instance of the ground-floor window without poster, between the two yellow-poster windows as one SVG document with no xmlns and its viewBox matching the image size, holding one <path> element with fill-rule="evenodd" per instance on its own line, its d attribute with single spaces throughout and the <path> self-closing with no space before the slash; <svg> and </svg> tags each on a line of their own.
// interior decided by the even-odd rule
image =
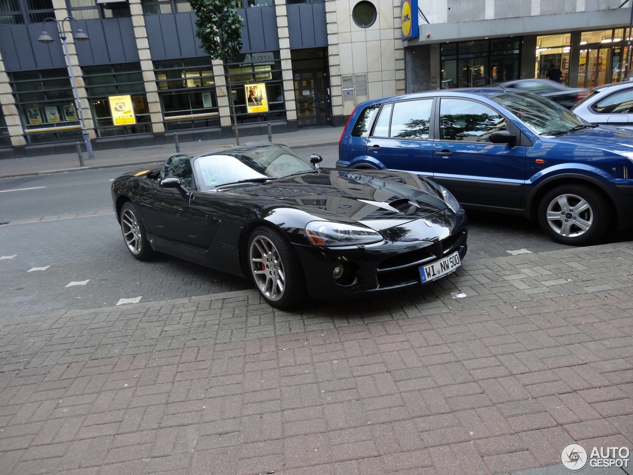
<svg viewBox="0 0 633 475">
<path fill-rule="evenodd" d="M 210 58 L 193 58 L 154 62 L 166 129 L 197 129 L 220 125 L 210 61 Z"/>
</svg>

